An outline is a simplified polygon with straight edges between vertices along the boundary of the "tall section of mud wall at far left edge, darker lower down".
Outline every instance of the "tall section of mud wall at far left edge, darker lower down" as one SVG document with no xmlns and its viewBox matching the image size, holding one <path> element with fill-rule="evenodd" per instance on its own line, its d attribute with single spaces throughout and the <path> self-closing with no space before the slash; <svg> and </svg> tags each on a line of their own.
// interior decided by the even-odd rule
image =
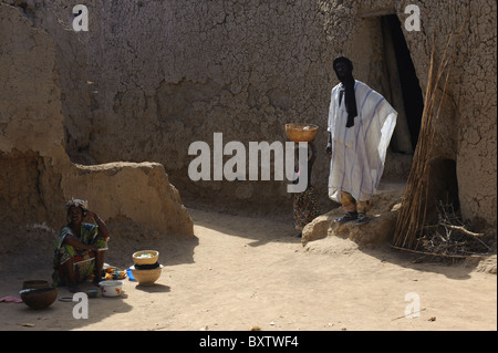
<svg viewBox="0 0 498 353">
<path fill-rule="evenodd" d="M 48 187 L 59 181 L 46 172 L 70 160 L 52 39 L 4 3 L 0 33 L 0 224 L 7 231 L 61 220 L 64 199 Z"/>
</svg>

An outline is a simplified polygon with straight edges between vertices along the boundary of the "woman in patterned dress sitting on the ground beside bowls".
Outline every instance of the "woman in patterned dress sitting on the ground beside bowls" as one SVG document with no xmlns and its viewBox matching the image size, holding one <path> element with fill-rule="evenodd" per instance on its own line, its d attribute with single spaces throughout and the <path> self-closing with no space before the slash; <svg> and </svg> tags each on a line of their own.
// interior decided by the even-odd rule
<svg viewBox="0 0 498 353">
<path fill-rule="evenodd" d="M 77 283 L 93 276 L 98 283 L 110 231 L 104 221 L 87 209 L 87 203 L 71 199 L 66 203 L 69 224 L 62 227 L 54 247 L 53 285 L 68 285 L 77 292 Z M 93 218 L 97 226 L 83 222 Z"/>
</svg>

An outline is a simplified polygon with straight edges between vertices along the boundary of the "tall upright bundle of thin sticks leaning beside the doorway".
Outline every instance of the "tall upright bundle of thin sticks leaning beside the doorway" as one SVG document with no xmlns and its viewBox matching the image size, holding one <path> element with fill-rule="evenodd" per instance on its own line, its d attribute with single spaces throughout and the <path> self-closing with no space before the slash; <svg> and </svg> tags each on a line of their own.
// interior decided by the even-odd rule
<svg viewBox="0 0 498 353">
<path fill-rule="evenodd" d="M 461 29 L 464 28 L 464 24 L 461 25 Z M 458 37 L 460 33 L 458 33 Z M 434 137 L 436 134 L 433 121 L 435 118 L 437 120 L 439 116 L 445 92 L 448 86 L 449 72 L 455 56 L 455 49 L 453 53 L 448 54 L 452 38 L 453 32 L 446 43 L 440 63 L 438 68 L 435 68 L 435 40 L 433 35 L 433 48 L 430 52 L 421 132 L 415 148 L 412 169 L 402 197 L 402 206 L 397 216 L 393 237 L 393 248 L 415 250 L 417 247 L 417 235 L 424 229 L 428 199 L 430 156 L 433 154 Z M 444 75 L 446 76 L 444 86 L 439 92 L 438 87 Z"/>
</svg>

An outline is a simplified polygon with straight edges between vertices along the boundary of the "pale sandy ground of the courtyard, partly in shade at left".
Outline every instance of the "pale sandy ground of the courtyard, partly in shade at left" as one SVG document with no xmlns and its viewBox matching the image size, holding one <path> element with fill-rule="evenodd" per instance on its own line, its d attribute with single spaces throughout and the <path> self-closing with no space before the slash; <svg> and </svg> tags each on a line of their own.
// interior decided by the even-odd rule
<svg viewBox="0 0 498 353">
<path fill-rule="evenodd" d="M 359 249 L 336 237 L 303 247 L 283 219 L 189 212 L 195 238 L 113 235 L 111 264 L 129 267 L 134 250 L 160 251 L 164 270 L 155 285 L 125 280 L 122 297 L 89 300 L 89 319 L 73 318 L 75 302 L 58 300 L 42 311 L 0 302 L 0 330 L 497 329 L 496 274 L 414 261 L 387 247 Z M 25 237 L 18 247 L 23 250 L 1 257 L 0 298 L 18 295 L 24 280 L 50 278 L 53 233 L 39 229 Z M 418 318 L 405 318 L 405 308 L 415 304 L 405 301 L 408 293 L 419 298 Z"/>
</svg>

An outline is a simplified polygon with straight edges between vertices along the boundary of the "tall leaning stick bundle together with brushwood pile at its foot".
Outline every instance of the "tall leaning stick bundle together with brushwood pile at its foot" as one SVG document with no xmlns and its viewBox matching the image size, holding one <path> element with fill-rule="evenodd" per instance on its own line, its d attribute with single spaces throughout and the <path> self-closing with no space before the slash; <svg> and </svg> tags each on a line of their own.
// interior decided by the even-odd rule
<svg viewBox="0 0 498 353">
<path fill-rule="evenodd" d="M 467 20 L 468 15 L 461 24 L 455 42 L 460 37 Z M 453 33 L 448 38 L 440 63 L 436 68 L 436 45 L 433 37 L 421 132 L 396 220 L 392 248 L 448 258 L 483 257 L 486 255 L 483 252 L 491 250 L 484 241 L 485 235 L 467 230 L 459 221 L 453 206 L 448 208 L 439 201 L 438 222 L 426 225 L 430 162 L 436 136 L 433 122 L 439 117 L 448 87 L 449 73 L 456 52 L 456 45 L 454 45 L 449 53 L 452 42 Z"/>
</svg>

